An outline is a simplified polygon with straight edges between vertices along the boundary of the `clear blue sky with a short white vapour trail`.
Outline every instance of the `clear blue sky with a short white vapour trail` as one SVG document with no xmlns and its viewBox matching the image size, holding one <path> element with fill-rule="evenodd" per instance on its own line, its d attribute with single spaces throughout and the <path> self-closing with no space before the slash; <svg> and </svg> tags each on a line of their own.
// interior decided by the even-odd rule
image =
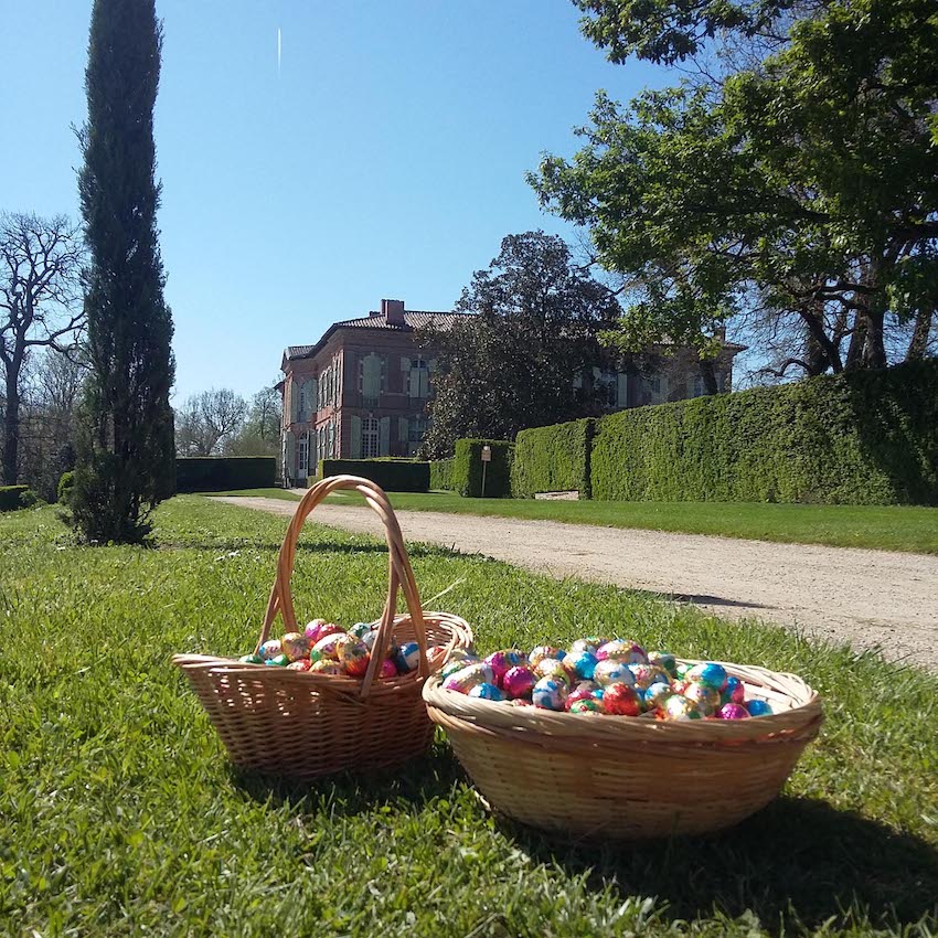
<svg viewBox="0 0 938 938">
<path fill-rule="evenodd" d="M 0 210 L 77 217 L 90 0 L 0 0 Z M 543 227 L 524 173 L 572 153 L 616 66 L 568 0 L 157 0 L 159 224 L 174 402 L 275 380 L 383 297 L 449 309 L 505 234 Z M 277 31 L 283 34 L 278 72 Z"/>
</svg>

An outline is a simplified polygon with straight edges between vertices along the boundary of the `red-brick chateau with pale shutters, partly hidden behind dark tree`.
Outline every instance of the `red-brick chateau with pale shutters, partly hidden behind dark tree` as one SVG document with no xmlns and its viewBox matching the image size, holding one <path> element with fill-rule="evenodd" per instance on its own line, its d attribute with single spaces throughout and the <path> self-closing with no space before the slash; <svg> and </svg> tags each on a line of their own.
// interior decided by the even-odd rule
<svg viewBox="0 0 938 938">
<path fill-rule="evenodd" d="M 281 455 L 285 484 L 305 486 L 321 459 L 413 456 L 427 430 L 426 404 L 434 393 L 437 360 L 420 349 L 415 332 L 433 323 L 450 327 L 471 313 L 417 312 L 403 300 L 382 300 L 381 310 L 333 322 L 315 345 L 284 352 Z M 733 356 L 725 344 L 716 362 L 717 386 L 729 390 Z M 650 350 L 623 371 L 599 363 L 578 381 L 605 388 L 605 409 L 621 411 L 704 393 L 694 353 L 664 356 Z"/>
</svg>

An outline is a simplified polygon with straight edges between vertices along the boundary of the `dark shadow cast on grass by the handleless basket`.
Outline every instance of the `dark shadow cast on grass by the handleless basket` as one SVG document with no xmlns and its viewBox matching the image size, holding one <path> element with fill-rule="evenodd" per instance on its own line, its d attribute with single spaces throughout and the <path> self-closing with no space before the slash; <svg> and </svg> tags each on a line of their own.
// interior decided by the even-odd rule
<svg viewBox="0 0 938 938">
<path fill-rule="evenodd" d="M 938 849 L 824 801 L 779 798 L 723 833 L 636 844 L 569 844 L 511 821 L 499 827 L 542 862 L 614 882 L 622 899 L 667 902 L 672 919 L 752 910 L 775 935 L 828 919 L 938 923 Z"/>
</svg>

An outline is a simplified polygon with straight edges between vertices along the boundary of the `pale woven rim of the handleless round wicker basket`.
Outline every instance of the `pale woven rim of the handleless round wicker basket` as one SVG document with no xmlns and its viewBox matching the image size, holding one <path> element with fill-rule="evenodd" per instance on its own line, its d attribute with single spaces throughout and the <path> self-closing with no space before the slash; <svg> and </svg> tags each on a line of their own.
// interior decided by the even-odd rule
<svg viewBox="0 0 938 938">
<path fill-rule="evenodd" d="M 695 659 L 679 661 L 687 664 L 702 663 Z M 747 685 L 757 687 L 770 700 L 787 700 L 789 706 L 780 712 L 750 720 L 668 721 L 654 720 L 650 714 L 626 717 L 567 713 L 470 697 L 446 690 L 438 674 L 431 675 L 424 684 L 423 696 L 431 718 L 435 717 L 435 711 L 446 714 L 447 728 L 478 726 L 498 735 L 512 733 L 519 739 L 531 738 L 536 734 L 542 739 L 565 739 L 582 745 L 621 745 L 623 742 L 744 743 L 772 737 L 785 738 L 792 733 L 800 735 L 812 726 L 816 731 L 820 726 L 823 720 L 821 696 L 801 678 L 756 665 L 727 661 L 716 663 L 722 664 L 729 674 L 739 678 Z"/>
</svg>

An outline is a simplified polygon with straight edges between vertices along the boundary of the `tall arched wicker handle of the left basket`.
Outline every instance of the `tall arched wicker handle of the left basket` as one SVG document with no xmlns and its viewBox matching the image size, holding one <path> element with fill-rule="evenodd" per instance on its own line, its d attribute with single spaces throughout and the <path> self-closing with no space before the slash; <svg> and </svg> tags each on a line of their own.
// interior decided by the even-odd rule
<svg viewBox="0 0 938 938">
<path fill-rule="evenodd" d="M 391 648 L 392 633 L 394 629 L 394 614 L 397 607 L 397 593 L 404 593 L 414 632 L 419 648 L 419 664 L 417 673 L 426 679 L 429 675 L 429 663 L 427 661 L 427 631 L 424 623 L 424 611 L 420 606 L 420 594 L 414 579 L 414 571 L 411 567 L 411 558 L 404 545 L 404 535 L 401 525 L 394 514 L 394 509 L 387 500 L 384 490 L 370 479 L 359 476 L 332 476 L 317 482 L 300 499 L 292 520 L 287 527 L 280 553 L 277 557 L 277 575 L 270 589 L 270 598 L 267 600 L 267 611 L 264 616 L 264 625 L 260 629 L 260 638 L 257 640 L 257 650 L 270 636 L 270 626 L 277 618 L 277 614 L 284 620 L 287 631 L 297 628 L 297 614 L 294 609 L 294 597 L 290 593 L 290 576 L 297 556 L 297 541 L 302 531 L 307 516 L 321 504 L 330 492 L 339 489 L 353 489 L 364 497 L 369 507 L 377 514 L 384 524 L 384 535 L 387 542 L 387 598 L 377 627 L 377 636 L 372 648 L 371 661 L 362 680 L 361 696 L 367 696 L 372 682 L 377 675 L 382 661 L 386 658 Z"/>
</svg>

